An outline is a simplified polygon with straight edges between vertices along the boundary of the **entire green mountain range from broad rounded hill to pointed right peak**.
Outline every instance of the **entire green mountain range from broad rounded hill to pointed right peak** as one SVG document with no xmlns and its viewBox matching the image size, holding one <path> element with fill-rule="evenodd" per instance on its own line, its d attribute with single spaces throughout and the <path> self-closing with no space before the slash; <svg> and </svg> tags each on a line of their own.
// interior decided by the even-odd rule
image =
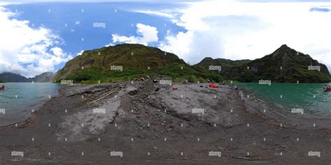
<svg viewBox="0 0 331 165">
<path fill-rule="evenodd" d="M 221 66 L 221 70 L 210 67 Z M 321 70 L 308 70 L 308 66 L 320 66 Z M 75 83 L 94 84 L 100 81 L 129 81 L 143 77 L 170 77 L 172 81 L 190 82 L 212 79 L 258 81 L 270 79 L 278 82 L 326 82 L 330 74 L 325 65 L 309 55 L 296 52 L 282 45 L 274 53 L 256 60 L 232 61 L 222 58 L 204 58 L 196 65 L 188 65 L 175 54 L 155 47 L 123 44 L 101 49 L 87 50 L 68 61 L 53 81 L 73 80 Z"/>
</svg>

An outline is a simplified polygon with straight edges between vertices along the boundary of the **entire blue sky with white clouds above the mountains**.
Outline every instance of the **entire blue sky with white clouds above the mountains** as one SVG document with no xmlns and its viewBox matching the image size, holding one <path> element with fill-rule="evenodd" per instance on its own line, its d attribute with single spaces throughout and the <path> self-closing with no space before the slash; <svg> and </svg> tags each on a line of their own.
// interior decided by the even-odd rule
<svg viewBox="0 0 331 165">
<path fill-rule="evenodd" d="M 31 1 L 0 2 L 0 73 L 56 72 L 83 50 L 121 43 L 190 64 L 261 58 L 286 44 L 331 70 L 330 1 Z"/>
</svg>

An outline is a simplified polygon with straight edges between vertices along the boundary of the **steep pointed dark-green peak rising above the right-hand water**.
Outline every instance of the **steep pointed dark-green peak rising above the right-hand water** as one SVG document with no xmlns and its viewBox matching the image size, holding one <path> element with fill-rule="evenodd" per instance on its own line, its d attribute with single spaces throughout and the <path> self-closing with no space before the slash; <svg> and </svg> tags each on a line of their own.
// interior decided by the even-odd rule
<svg viewBox="0 0 331 165">
<path fill-rule="evenodd" d="M 287 45 L 281 45 L 272 54 L 251 61 L 247 65 L 250 68 L 246 72 L 255 76 L 247 79 L 249 81 L 271 79 L 279 82 L 325 82 L 330 78 L 328 68 L 324 64 Z M 319 70 L 310 70 L 310 66 Z"/>
</svg>

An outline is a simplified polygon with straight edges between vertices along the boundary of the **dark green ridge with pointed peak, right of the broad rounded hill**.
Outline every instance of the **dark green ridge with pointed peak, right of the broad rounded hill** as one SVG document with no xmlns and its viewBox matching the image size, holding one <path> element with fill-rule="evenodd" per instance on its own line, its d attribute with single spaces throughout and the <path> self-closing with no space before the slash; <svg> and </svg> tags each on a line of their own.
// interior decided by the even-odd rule
<svg viewBox="0 0 331 165">
<path fill-rule="evenodd" d="M 277 82 L 328 82 L 328 68 L 307 54 L 302 54 L 287 45 L 281 45 L 272 54 L 253 61 L 231 61 L 221 58 L 204 58 L 194 65 L 198 70 L 207 70 L 209 65 L 221 65 L 219 72 L 224 79 L 258 81 L 267 79 Z"/>
</svg>

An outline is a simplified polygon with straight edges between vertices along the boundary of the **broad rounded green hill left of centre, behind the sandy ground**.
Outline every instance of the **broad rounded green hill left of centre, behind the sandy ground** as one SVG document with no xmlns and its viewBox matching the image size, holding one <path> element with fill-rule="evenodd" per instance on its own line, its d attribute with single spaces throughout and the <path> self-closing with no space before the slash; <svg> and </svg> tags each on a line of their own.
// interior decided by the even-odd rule
<svg viewBox="0 0 331 165">
<path fill-rule="evenodd" d="M 59 70 L 54 81 L 70 79 L 75 82 L 97 83 L 128 81 L 143 77 L 171 77 L 175 81 L 191 81 L 214 77 L 221 81 L 219 74 L 205 73 L 194 69 L 175 54 L 163 52 L 155 47 L 137 44 L 123 44 L 84 51 L 68 61 Z"/>
</svg>

